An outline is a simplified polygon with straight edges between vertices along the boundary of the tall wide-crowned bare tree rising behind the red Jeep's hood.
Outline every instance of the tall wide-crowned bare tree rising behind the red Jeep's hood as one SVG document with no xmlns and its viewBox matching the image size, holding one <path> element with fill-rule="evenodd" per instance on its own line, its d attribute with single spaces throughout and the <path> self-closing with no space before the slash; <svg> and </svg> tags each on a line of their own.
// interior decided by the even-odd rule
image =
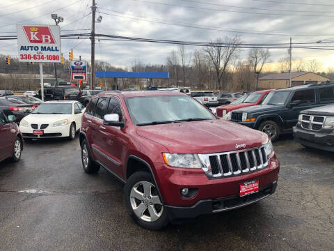
<svg viewBox="0 0 334 251">
<path fill-rule="evenodd" d="M 221 44 L 224 43 L 225 47 Z M 209 46 L 205 48 L 205 52 L 209 56 L 209 60 L 216 72 L 217 88 L 221 89 L 221 79 L 223 79 L 226 70 L 230 62 L 233 61 L 234 57 L 240 52 L 239 45 L 241 38 L 239 36 L 226 36 L 223 41 L 221 38 L 217 38 L 215 42 L 210 41 Z M 227 45 L 227 46 L 226 46 Z M 223 82 L 223 89 L 226 88 L 226 83 Z"/>
</svg>

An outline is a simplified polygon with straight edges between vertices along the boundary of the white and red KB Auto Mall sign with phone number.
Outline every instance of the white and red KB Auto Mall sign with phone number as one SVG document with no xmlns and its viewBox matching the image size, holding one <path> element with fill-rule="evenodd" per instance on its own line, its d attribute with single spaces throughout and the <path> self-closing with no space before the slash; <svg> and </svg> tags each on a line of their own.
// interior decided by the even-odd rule
<svg viewBox="0 0 334 251">
<path fill-rule="evenodd" d="M 22 62 L 61 62 L 61 30 L 57 25 L 17 24 L 17 50 Z"/>
</svg>

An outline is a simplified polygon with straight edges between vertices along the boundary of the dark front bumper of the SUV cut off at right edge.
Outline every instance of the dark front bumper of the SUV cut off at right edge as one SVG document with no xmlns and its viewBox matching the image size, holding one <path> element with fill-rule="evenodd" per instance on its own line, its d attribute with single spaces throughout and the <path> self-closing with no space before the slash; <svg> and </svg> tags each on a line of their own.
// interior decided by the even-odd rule
<svg viewBox="0 0 334 251">
<path fill-rule="evenodd" d="M 294 126 L 294 140 L 315 149 L 334 151 L 334 131 L 315 132 Z"/>
</svg>

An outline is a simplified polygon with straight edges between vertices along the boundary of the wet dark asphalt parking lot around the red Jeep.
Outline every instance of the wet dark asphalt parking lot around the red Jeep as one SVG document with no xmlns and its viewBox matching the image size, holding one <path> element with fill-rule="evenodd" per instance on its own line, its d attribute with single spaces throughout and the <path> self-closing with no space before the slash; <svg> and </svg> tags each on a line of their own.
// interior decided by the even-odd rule
<svg viewBox="0 0 334 251">
<path fill-rule="evenodd" d="M 27 143 L 22 160 L 0 162 L 0 250 L 333 250 L 333 153 L 291 136 L 274 150 L 275 195 L 148 231 L 127 215 L 122 183 L 84 173 L 78 138 Z"/>
</svg>

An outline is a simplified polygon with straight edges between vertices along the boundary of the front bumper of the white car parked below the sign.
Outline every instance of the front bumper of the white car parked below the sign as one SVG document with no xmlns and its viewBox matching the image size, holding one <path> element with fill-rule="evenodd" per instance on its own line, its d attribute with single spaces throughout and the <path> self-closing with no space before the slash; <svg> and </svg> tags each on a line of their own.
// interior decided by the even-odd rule
<svg viewBox="0 0 334 251">
<path fill-rule="evenodd" d="M 40 126 L 38 126 L 39 128 Z M 30 139 L 40 139 L 40 138 L 52 138 L 52 137 L 69 137 L 70 136 L 70 123 L 65 126 L 57 126 L 43 129 L 43 135 L 33 135 L 33 128 L 31 125 L 29 126 L 19 126 L 19 130 L 21 130 L 24 138 Z M 37 129 L 40 130 L 40 129 Z"/>
</svg>

